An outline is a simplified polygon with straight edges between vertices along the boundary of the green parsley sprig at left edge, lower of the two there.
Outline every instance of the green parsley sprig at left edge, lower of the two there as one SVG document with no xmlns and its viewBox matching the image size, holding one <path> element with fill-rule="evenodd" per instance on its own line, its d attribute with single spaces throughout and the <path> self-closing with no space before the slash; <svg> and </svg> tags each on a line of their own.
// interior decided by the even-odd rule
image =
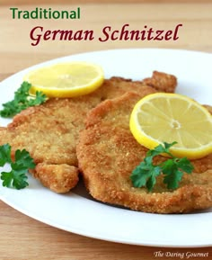
<svg viewBox="0 0 212 260">
<path fill-rule="evenodd" d="M 10 164 L 10 172 L 2 172 L 1 180 L 3 186 L 7 188 L 23 189 L 29 184 L 27 183 L 28 169 L 34 169 L 35 164 L 28 151 L 18 149 L 15 151 L 14 161 L 11 158 L 11 146 L 4 144 L 0 147 L 0 166 L 3 167 L 6 163 Z"/>
</svg>

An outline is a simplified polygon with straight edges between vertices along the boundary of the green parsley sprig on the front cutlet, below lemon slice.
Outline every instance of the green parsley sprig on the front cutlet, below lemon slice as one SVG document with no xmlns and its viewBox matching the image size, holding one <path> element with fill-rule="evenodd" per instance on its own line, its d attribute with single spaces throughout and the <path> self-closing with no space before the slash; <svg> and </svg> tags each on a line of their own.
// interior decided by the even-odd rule
<svg viewBox="0 0 212 260">
<path fill-rule="evenodd" d="M 164 142 L 163 145 L 149 150 L 144 161 L 130 175 L 132 184 L 135 187 L 146 186 L 148 192 L 151 192 L 156 184 L 156 177 L 163 174 L 163 184 L 166 184 L 168 189 L 177 189 L 183 173 L 191 174 L 194 167 L 187 157 L 178 158 L 172 155 L 169 149 L 176 143 Z M 154 165 L 154 157 L 163 154 L 170 158 L 159 165 Z"/>
</svg>

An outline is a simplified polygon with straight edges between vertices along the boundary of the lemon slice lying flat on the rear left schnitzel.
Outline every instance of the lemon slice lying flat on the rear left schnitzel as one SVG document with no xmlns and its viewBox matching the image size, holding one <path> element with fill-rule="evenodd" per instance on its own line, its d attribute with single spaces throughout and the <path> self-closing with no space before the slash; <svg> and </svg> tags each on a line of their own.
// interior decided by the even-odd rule
<svg viewBox="0 0 212 260">
<path fill-rule="evenodd" d="M 41 91 L 49 97 L 89 94 L 102 85 L 102 67 L 83 61 L 40 67 L 24 76 L 31 83 L 31 94 Z"/>
</svg>

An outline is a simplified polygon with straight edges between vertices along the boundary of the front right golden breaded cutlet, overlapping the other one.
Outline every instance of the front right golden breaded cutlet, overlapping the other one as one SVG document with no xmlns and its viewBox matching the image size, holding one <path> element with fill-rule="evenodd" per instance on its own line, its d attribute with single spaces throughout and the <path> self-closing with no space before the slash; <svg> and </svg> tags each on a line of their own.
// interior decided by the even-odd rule
<svg viewBox="0 0 212 260">
<path fill-rule="evenodd" d="M 87 190 L 98 201 L 135 211 L 176 213 L 211 207 L 212 154 L 192 161 L 194 172 L 183 175 L 177 190 L 168 190 L 162 176 L 157 177 L 152 193 L 145 187 L 133 187 L 130 175 L 147 151 L 137 143 L 128 126 L 130 112 L 140 98 L 140 94 L 124 94 L 88 113 L 76 148 Z M 158 156 L 155 163 L 165 159 Z"/>
</svg>

